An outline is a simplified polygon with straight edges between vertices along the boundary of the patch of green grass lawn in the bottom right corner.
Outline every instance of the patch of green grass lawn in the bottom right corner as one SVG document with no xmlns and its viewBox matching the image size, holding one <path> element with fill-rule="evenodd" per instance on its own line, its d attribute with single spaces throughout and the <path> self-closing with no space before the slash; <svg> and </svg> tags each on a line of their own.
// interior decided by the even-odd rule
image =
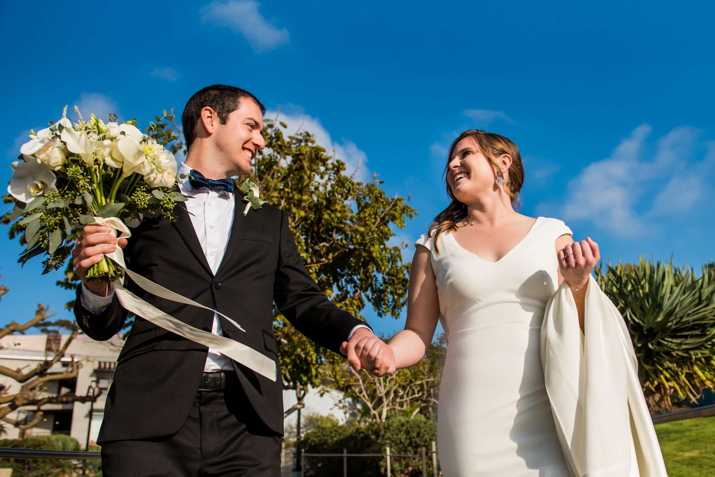
<svg viewBox="0 0 715 477">
<path fill-rule="evenodd" d="M 715 476 L 715 417 L 656 426 L 669 477 Z"/>
</svg>

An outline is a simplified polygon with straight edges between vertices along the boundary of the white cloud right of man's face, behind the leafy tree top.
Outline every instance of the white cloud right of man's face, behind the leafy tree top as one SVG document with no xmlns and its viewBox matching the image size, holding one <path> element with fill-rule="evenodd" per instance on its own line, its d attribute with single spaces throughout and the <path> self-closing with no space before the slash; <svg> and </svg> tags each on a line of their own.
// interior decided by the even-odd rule
<svg viewBox="0 0 715 477">
<path fill-rule="evenodd" d="M 285 132 L 287 134 L 295 134 L 299 131 L 310 132 L 315 137 L 315 142 L 324 147 L 327 154 L 332 156 L 335 151 L 335 158 L 345 162 L 345 174 L 353 174 L 355 172 L 355 180 L 368 180 L 370 173 L 368 171 L 368 154 L 360 149 L 354 142 L 348 139 L 342 139 L 340 143 L 335 142 L 330 137 L 325 127 L 320 123 L 320 119 L 310 116 L 302 112 L 294 114 L 285 114 L 277 111 L 267 111 L 265 117 L 273 119 L 278 116 L 280 122 L 287 124 Z"/>
</svg>

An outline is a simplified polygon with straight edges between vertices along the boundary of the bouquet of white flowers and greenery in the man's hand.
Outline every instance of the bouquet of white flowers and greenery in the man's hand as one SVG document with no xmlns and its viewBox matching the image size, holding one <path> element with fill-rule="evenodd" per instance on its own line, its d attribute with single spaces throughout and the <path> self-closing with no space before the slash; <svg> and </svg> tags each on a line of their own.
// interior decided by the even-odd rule
<svg viewBox="0 0 715 477">
<path fill-rule="evenodd" d="M 164 110 L 149 122 L 146 134 L 137 121 L 119 124 L 114 114 L 105 124 L 92 114 L 72 124 L 66 107 L 58 122 L 30 131 L 30 141 L 12 163 L 9 194 L 16 199 L 12 220 L 24 227 L 26 248 L 19 262 L 45 252 L 44 273 L 61 267 L 71 252 L 77 229 L 98 217 L 117 217 L 136 227 L 143 215 L 176 220 L 174 205 L 186 197 L 177 187 L 177 163 L 167 144 L 177 135 L 164 130 L 173 114 Z M 124 275 L 104 257 L 87 272 L 89 282 L 113 282 Z"/>
</svg>

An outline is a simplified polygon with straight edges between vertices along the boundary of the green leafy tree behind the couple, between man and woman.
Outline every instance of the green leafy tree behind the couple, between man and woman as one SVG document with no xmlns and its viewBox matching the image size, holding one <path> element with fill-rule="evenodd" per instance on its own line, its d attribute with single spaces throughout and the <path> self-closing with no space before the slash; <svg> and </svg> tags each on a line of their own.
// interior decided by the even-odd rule
<svg viewBox="0 0 715 477">
<path fill-rule="evenodd" d="M 333 303 L 358 318 L 367 305 L 380 317 L 398 318 L 406 303 L 410 264 L 402 260 L 405 244 L 388 241 L 395 235 L 393 227 L 405 227 L 405 220 L 417 213 L 407 204 L 409 197 L 386 195 L 377 174 L 365 182 L 355 180 L 310 132 L 288 133 L 285 123 L 265 121 L 266 147 L 251 177 L 260 197 L 287 214 L 307 270 Z M 274 320 L 283 385 L 297 397 L 289 415 L 303 406 L 310 386 L 318 387 L 326 370 L 342 360 L 298 333 L 277 309 Z"/>
</svg>

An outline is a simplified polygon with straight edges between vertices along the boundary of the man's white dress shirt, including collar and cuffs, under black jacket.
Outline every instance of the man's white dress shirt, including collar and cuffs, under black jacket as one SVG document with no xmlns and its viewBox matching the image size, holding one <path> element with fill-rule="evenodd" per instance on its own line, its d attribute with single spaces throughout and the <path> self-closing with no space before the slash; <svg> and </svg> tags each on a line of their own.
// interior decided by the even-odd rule
<svg viewBox="0 0 715 477">
<path fill-rule="evenodd" d="M 179 166 L 177 174 L 189 174 L 191 170 L 182 162 Z M 203 190 L 192 190 L 189 185 L 189 180 L 179 184 L 180 192 L 187 196 L 189 200 L 186 202 L 189 217 L 191 217 L 194 231 L 199 239 L 199 244 L 204 251 L 206 260 L 211 267 L 211 271 L 216 273 L 221 265 L 228 238 L 231 234 L 233 225 L 233 215 L 235 209 L 234 195 L 223 190 L 211 190 L 208 187 Z M 104 308 L 109 306 L 114 296 L 114 290 L 111 290 L 108 297 L 100 297 L 87 290 L 87 287 L 82 283 L 82 305 L 90 313 L 101 313 Z M 352 338 L 352 333 L 358 328 L 368 328 L 365 325 L 357 325 L 352 328 L 347 340 Z M 369 328 L 368 328 L 369 329 Z M 219 316 L 214 314 L 214 323 L 211 333 L 221 336 L 223 331 Z M 206 358 L 206 366 L 204 370 L 232 370 L 230 358 L 222 355 L 213 348 L 209 348 L 209 354 Z"/>
</svg>

